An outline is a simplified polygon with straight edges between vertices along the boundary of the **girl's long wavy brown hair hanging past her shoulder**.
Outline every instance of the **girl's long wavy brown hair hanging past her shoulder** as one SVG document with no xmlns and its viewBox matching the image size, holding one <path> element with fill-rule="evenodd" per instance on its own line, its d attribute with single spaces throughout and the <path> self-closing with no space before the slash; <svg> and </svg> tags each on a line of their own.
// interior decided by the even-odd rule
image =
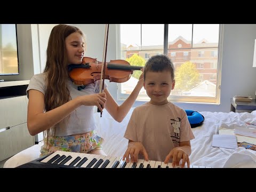
<svg viewBox="0 0 256 192">
<path fill-rule="evenodd" d="M 44 68 L 46 73 L 45 112 L 55 109 L 71 99 L 67 87 L 69 63 L 65 39 L 75 32 L 81 34 L 85 39 L 83 32 L 75 26 L 60 24 L 54 26 L 51 31 Z M 67 120 L 68 118 L 63 119 L 63 121 Z M 44 131 L 44 141 L 46 138 L 47 145 L 49 138 L 55 136 L 55 130 L 63 121 Z"/>
</svg>

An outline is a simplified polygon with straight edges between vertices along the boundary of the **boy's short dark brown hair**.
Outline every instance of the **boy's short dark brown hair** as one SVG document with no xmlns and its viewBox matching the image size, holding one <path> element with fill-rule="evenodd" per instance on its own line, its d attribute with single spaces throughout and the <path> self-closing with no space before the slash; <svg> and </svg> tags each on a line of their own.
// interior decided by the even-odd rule
<svg viewBox="0 0 256 192">
<path fill-rule="evenodd" d="M 158 54 L 150 57 L 144 67 L 143 78 L 145 81 L 145 77 L 148 71 L 170 71 L 172 80 L 174 80 L 174 65 L 169 57 L 164 54 Z"/>
</svg>

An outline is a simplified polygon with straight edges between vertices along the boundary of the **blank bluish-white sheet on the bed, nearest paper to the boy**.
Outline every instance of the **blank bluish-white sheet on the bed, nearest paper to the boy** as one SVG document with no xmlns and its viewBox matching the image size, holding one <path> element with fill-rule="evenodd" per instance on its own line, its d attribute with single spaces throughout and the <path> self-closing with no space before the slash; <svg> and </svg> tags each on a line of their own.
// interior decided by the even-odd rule
<svg viewBox="0 0 256 192">
<path fill-rule="evenodd" d="M 237 148 L 236 135 L 214 134 L 212 138 L 212 147 L 236 149 Z"/>
</svg>

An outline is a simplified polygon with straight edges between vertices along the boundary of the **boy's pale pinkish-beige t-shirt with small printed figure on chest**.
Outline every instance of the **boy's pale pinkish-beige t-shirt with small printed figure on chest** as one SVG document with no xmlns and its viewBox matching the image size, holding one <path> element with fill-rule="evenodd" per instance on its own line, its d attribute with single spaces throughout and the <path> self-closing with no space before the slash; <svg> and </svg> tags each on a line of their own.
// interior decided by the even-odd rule
<svg viewBox="0 0 256 192">
<path fill-rule="evenodd" d="M 171 102 L 161 106 L 147 102 L 136 107 L 124 137 L 141 142 L 149 160 L 161 162 L 179 142 L 195 138 L 186 111 Z M 139 159 L 144 159 L 143 155 L 139 154 Z"/>
</svg>

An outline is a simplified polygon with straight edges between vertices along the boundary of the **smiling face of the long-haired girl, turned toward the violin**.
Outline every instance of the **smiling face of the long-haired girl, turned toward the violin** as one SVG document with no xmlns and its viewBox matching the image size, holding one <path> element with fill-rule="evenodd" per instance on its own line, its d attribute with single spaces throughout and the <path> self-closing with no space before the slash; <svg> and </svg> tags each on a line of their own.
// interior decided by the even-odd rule
<svg viewBox="0 0 256 192">
<path fill-rule="evenodd" d="M 81 34 L 75 32 L 66 39 L 68 64 L 81 64 L 84 57 L 84 39 Z"/>
</svg>

